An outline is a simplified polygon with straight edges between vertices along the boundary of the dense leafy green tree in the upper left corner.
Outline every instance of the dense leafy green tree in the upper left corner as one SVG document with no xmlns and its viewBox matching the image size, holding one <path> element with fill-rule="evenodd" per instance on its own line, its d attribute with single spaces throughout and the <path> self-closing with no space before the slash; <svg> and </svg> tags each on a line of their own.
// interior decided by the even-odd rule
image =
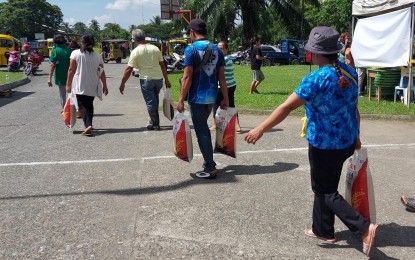
<svg viewBox="0 0 415 260">
<path fill-rule="evenodd" d="M 44 32 L 52 37 L 62 23 L 59 6 L 46 0 L 8 0 L 0 5 L 0 27 L 14 37 L 34 39 L 34 34 Z"/>
</svg>

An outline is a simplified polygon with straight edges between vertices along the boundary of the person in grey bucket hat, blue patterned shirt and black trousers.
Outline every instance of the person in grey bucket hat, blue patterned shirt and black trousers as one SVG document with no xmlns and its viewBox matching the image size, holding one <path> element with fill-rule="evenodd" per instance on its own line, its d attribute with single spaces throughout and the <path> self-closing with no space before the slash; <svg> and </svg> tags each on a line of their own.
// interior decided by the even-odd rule
<svg viewBox="0 0 415 260">
<path fill-rule="evenodd" d="M 306 76 L 287 100 L 245 136 L 255 144 L 265 131 L 304 105 L 307 117 L 311 187 L 314 192 L 313 224 L 305 235 L 335 243 L 337 216 L 353 234 L 361 236 L 363 253 L 370 255 L 376 224 L 365 220 L 337 191 L 344 161 L 361 146 L 357 110 L 357 75 L 338 61 L 339 33 L 326 26 L 311 30 L 305 49 L 319 69 Z"/>
</svg>

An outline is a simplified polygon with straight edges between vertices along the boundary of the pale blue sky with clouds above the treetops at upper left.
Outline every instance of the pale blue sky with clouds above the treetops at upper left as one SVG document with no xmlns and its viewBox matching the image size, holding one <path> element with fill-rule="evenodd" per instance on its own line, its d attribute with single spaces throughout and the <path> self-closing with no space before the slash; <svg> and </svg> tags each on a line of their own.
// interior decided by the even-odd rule
<svg viewBox="0 0 415 260">
<path fill-rule="evenodd" d="M 128 29 L 130 25 L 150 23 L 160 16 L 160 0 L 47 0 L 60 7 L 64 22 L 73 25 L 83 22 L 87 26 L 96 19 L 100 27 L 106 23 L 117 23 Z M 0 0 L 0 2 L 7 2 Z"/>
</svg>

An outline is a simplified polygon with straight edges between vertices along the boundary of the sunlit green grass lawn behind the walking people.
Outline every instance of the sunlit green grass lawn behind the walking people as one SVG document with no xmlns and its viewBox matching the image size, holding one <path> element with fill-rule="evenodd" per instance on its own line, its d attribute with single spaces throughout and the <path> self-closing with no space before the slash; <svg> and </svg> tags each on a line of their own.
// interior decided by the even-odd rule
<svg viewBox="0 0 415 260">
<path fill-rule="evenodd" d="M 312 70 L 317 66 L 312 66 Z M 249 94 L 249 86 L 252 81 L 252 72 L 250 66 L 240 66 L 235 64 L 235 78 L 237 88 L 235 92 L 236 107 L 240 109 L 263 109 L 272 110 L 295 90 L 301 83 L 301 80 L 310 73 L 309 65 L 286 65 L 263 67 L 262 71 L 265 80 L 259 85 L 260 94 Z M 182 71 L 169 73 L 170 82 L 172 82 L 172 95 L 174 100 L 179 96 L 179 78 Z M 359 110 L 361 114 L 385 114 L 385 115 L 415 115 L 415 106 L 412 103 L 408 109 L 402 103 L 394 103 L 393 97 L 381 102 L 369 101 L 367 97 L 359 99 Z M 296 113 L 304 113 L 304 108 L 300 107 Z"/>
</svg>

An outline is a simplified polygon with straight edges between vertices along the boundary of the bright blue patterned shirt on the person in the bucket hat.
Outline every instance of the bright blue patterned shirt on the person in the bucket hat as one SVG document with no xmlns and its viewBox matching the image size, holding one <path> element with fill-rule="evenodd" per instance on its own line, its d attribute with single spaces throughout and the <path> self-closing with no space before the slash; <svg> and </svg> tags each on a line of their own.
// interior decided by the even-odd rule
<svg viewBox="0 0 415 260">
<path fill-rule="evenodd" d="M 339 62 L 355 80 L 357 73 Z M 353 80 L 347 89 L 340 89 L 338 75 L 332 66 L 324 66 L 306 76 L 295 94 L 305 103 L 307 141 L 319 149 L 344 149 L 359 134 L 357 122 L 358 87 Z"/>
</svg>

